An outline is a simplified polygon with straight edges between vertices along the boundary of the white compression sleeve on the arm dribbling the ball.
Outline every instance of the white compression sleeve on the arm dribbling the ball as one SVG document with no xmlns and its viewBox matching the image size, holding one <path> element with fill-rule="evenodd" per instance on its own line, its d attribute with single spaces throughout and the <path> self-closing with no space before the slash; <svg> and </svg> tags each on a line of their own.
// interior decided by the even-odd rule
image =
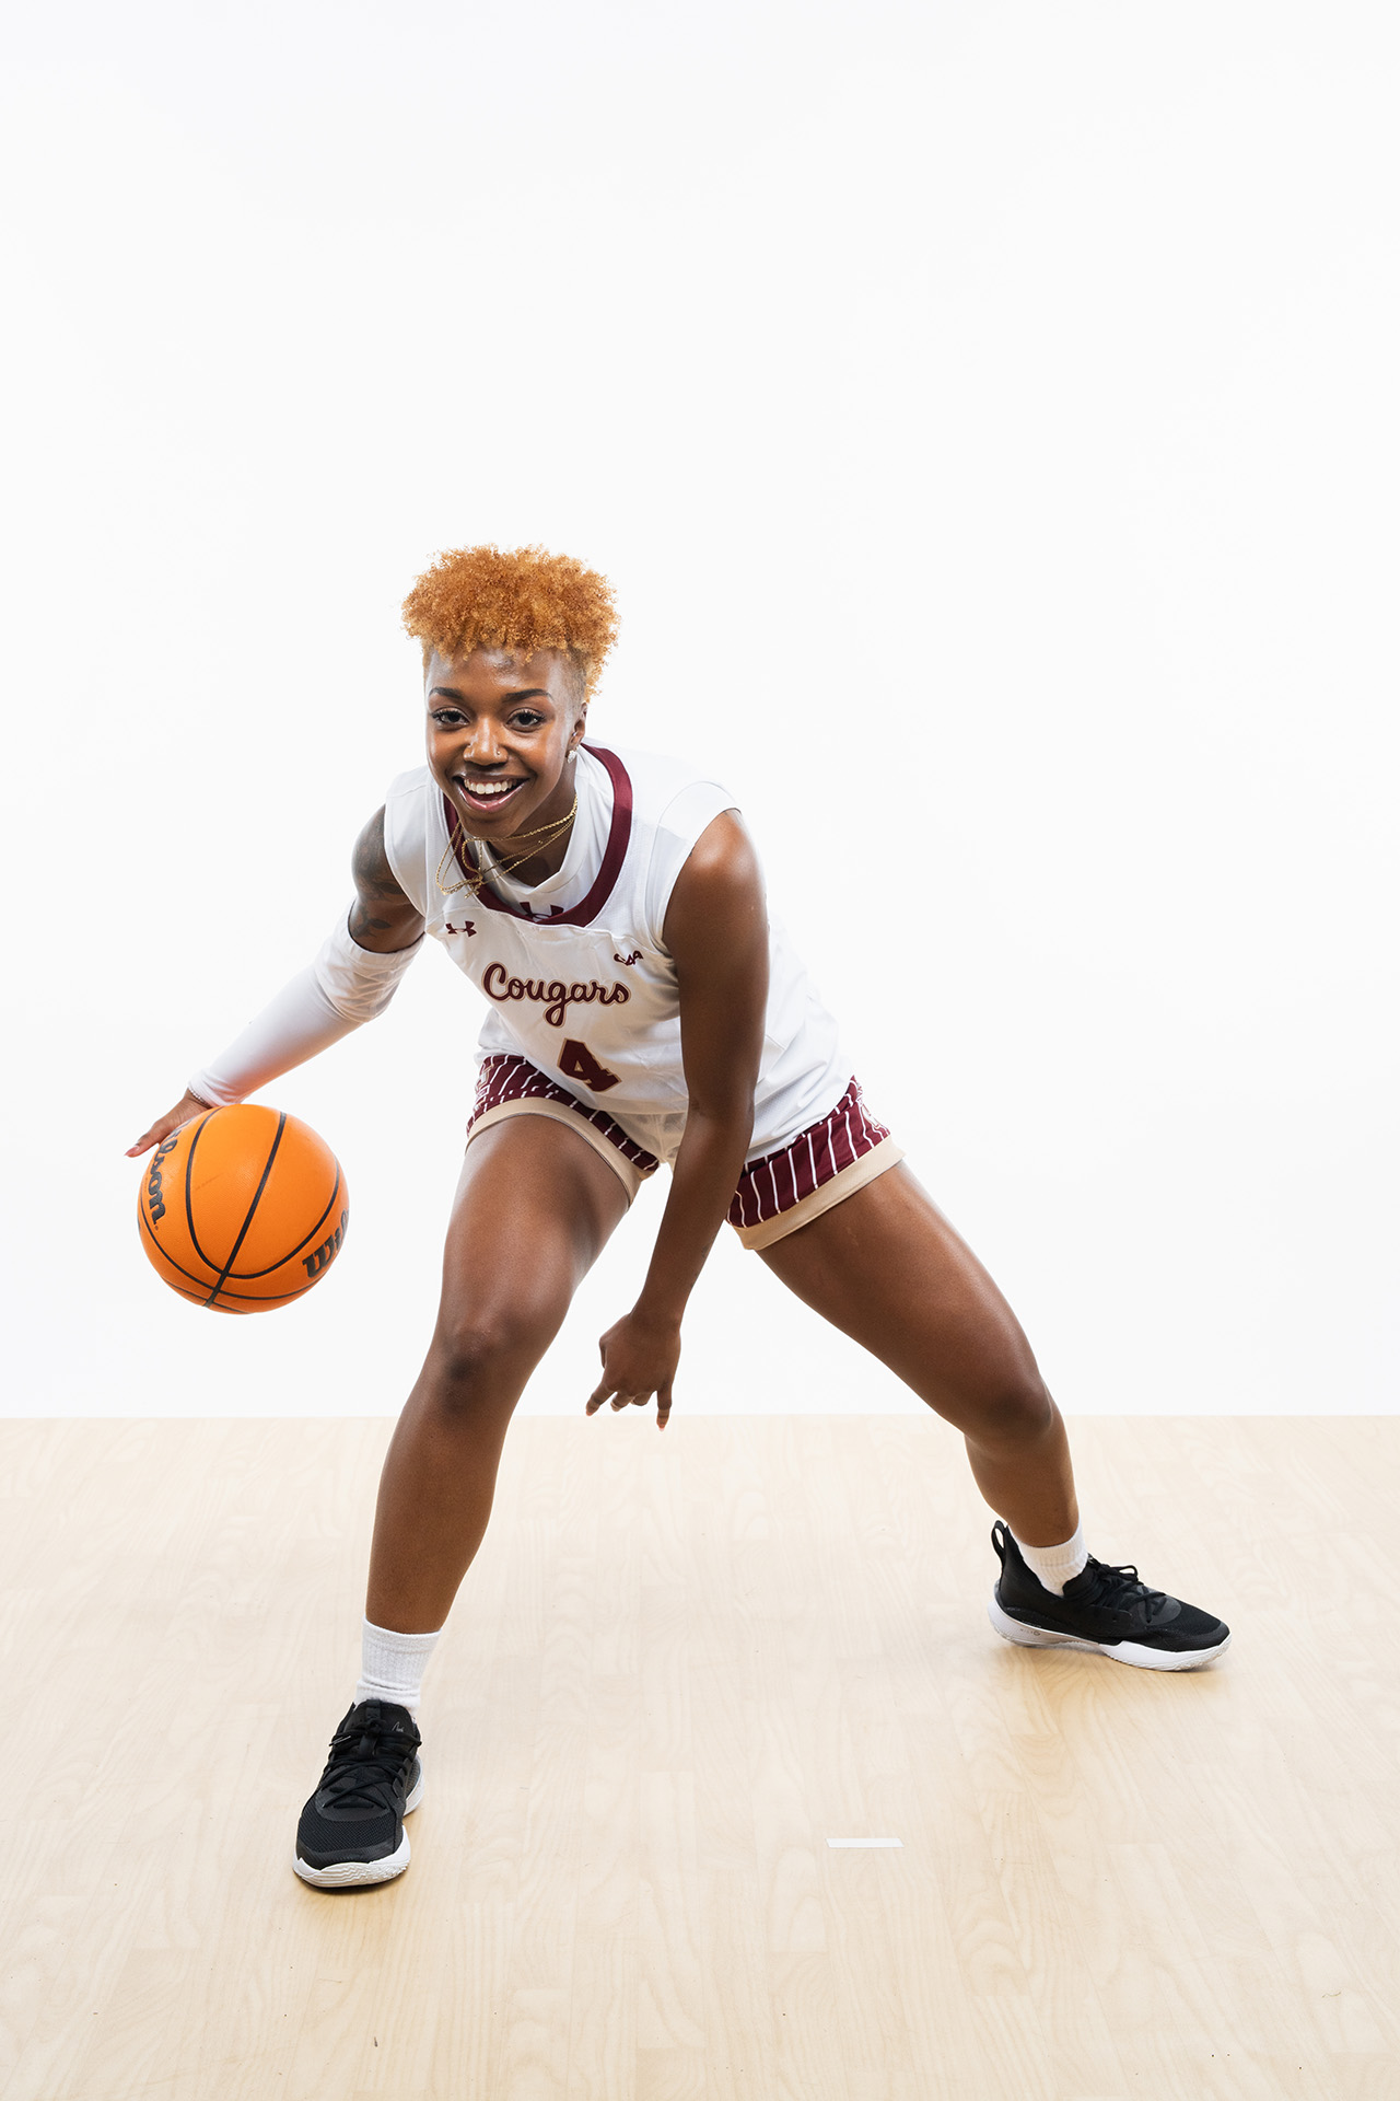
<svg viewBox="0 0 1400 2101">
<path fill-rule="evenodd" d="M 399 979 L 422 948 L 399 948 L 388 956 L 359 948 L 344 920 L 327 935 L 315 962 L 298 971 L 290 985 L 256 1015 L 241 1036 L 189 1082 L 191 1095 L 214 1107 L 243 1101 L 317 1050 L 340 1042 L 361 1021 L 382 1015 Z"/>
</svg>

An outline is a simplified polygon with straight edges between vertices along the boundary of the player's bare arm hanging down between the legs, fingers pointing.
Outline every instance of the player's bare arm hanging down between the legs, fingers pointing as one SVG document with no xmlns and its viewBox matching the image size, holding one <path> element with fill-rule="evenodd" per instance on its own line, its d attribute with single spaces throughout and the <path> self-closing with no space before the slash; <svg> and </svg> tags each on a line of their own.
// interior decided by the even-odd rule
<svg viewBox="0 0 1400 2101">
<path fill-rule="evenodd" d="M 701 832 L 665 910 L 665 945 L 680 979 L 680 1057 L 691 1107 L 672 1168 L 642 1294 L 602 1336 L 602 1378 L 592 1416 L 644 1408 L 657 1395 L 657 1429 L 672 1412 L 680 1319 L 705 1267 L 743 1170 L 754 1132 L 754 1088 L 768 1004 L 768 910 L 758 855 L 739 813 Z"/>
</svg>

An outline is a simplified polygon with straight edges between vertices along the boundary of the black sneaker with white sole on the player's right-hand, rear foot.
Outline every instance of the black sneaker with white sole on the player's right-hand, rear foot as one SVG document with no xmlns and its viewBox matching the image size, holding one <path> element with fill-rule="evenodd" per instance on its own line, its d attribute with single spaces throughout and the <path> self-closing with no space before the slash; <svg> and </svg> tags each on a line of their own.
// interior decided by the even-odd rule
<svg viewBox="0 0 1400 2101">
<path fill-rule="evenodd" d="M 997 1519 L 991 1542 L 1001 1576 L 987 1618 L 1005 1641 L 1024 1649 L 1098 1649 L 1142 1670 L 1196 1670 L 1230 1647 L 1230 1628 L 1180 1597 L 1150 1590 L 1136 1567 L 1089 1565 L 1064 1586 L 1064 1597 L 1033 1576 L 1020 1546 Z"/>
</svg>

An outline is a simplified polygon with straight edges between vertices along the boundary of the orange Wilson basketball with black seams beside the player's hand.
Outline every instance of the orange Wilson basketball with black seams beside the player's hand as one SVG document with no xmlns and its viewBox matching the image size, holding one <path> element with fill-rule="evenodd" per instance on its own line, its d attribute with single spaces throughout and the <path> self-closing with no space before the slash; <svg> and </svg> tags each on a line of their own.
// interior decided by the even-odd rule
<svg viewBox="0 0 1400 2101">
<path fill-rule="evenodd" d="M 351 1219 L 340 1162 L 309 1124 L 241 1103 L 155 1151 L 136 1198 L 141 1246 L 181 1298 L 262 1313 L 309 1292 Z"/>
</svg>

